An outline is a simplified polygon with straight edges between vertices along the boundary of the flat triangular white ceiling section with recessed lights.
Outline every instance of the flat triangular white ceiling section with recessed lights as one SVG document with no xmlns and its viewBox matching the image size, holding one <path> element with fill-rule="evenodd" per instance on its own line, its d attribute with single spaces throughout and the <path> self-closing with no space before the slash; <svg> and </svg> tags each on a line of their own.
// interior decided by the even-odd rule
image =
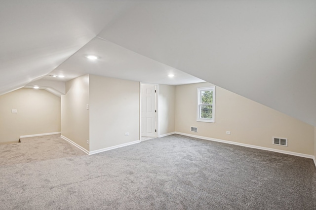
<svg viewBox="0 0 316 210">
<path fill-rule="evenodd" d="M 95 55 L 89 60 L 87 55 Z M 95 74 L 146 83 L 181 85 L 203 82 L 188 73 L 127 50 L 112 42 L 95 37 L 77 53 L 50 72 L 51 75 L 65 75 L 65 81 L 83 74 Z M 173 74 L 170 78 L 168 75 Z M 49 79 L 46 77 L 44 79 Z M 50 77 L 55 80 L 56 78 Z"/>
</svg>

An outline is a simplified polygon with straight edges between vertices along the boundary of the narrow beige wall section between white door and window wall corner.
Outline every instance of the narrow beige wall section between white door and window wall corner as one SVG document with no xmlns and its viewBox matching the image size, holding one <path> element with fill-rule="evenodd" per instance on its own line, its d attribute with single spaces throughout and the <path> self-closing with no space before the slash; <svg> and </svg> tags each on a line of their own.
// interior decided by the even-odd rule
<svg viewBox="0 0 316 210">
<path fill-rule="evenodd" d="M 175 132 L 175 86 L 159 85 L 158 121 L 159 136 Z"/>
</svg>

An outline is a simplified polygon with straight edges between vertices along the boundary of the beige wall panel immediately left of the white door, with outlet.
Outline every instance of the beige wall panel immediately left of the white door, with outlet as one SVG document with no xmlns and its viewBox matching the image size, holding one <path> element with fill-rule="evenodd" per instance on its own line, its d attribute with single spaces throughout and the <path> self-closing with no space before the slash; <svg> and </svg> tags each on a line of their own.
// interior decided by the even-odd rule
<svg viewBox="0 0 316 210">
<path fill-rule="evenodd" d="M 139 82 L 90 74 L 90 151 L 139 140 L 139 97 Z"/>
</svg>

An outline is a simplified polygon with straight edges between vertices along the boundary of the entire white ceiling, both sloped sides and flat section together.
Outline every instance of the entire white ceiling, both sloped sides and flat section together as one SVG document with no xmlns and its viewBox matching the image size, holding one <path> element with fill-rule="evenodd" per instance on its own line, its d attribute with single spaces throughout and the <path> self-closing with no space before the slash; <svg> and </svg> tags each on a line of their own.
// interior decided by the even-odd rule
<svg viewBox="0 0 316 210">
<path fill-rule="evenodd" d="M 0 31 L 0 94 L 50 72 L 198 77 L 316 126 L 316 0 L 2 0 Z"/>
</svg>

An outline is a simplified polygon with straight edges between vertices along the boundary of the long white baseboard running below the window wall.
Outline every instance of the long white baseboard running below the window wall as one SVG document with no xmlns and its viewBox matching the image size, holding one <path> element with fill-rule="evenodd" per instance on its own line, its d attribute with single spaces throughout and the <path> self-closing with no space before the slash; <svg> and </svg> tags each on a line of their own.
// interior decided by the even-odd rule
<svg viewBox="0 0 316 210">
<path fill-rule="evenodd" d="M 298 152 L 290 152 L 290 151 L 284 151 L 284 150 L 279 150 L 279 149 L 272 149 L 272 148 L 268 148 L 268 147 L 255 146 L 255 145 L 245 144 L 245 143 L 238 143 L 238 142 L 229 141 L 229 140 L 219 140 L 219 139 L 213 139 L 213 138 L 209 138 L 209 137 L 201 137 L 201 136 L 196 136 L 196 135 L 192 135 L 192 134 L 185 134 L 185 133 L 180 133 L 180 132 L 175 132 L 175 133 L 183 135 L 183 136 L 188 136 L 188 137 L 194 137 L 194 138 L 197 138 L 197 139 L 202 139 L 202 140 L 211 140 L 211 141 L 217 141 L 217 142 L 222 142 L 222 143 L 234 144 L 234 145 L 238 145 L 238 146 L 245 146 L 245 147 L 250 147 L 250 148 L 255 148 L 255 149 L 261 149 L 261 150 L 278 152 L 278 153 L 283 153 L 283 154 L 288 154 L 288 155 L 294 155 L 294 156 L 299 156 L 299 157 L 311 158 L 311 159 L 314 160 L 315 166 L 316 166 L 316 160 L 315 160 L 315 156 L 314 155 L 307 155 L 307 154 L 298 153 Z"/>
</svg>

